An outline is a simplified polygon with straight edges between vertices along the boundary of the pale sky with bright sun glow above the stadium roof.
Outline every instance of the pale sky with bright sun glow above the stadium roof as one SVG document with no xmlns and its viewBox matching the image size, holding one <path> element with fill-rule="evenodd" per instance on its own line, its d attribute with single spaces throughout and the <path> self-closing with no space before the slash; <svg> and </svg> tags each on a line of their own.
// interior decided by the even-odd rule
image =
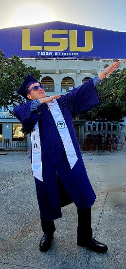
<svg viewBox="0 0 126 269">
<path fill-rule="evenodd" d="M 126 0 L 0 0 L 0 29 L 53 21 L 126 32 Z"/>
</svg>

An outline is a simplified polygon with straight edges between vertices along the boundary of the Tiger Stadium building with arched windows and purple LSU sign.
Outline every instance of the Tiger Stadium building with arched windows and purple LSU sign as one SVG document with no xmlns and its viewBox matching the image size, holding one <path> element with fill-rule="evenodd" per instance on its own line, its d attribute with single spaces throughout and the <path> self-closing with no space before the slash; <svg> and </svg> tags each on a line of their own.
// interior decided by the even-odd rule
<svg viewBox="0 0 126 269">
<path fill-rule="evenodd" d="M 120 60 L 126 67 L 126 33 L 98 29 L 67 22 L 48 22 L 0 29 L 0 49 L 5 57 L 17 55 L 23 63 L 41 72 L 40 81 L 48 96 L 66 94 L 89 78 L 93 78 Z M 9 110 L 13 111 L 10 105 Z M 124 141 L 124 123 L 74 121 L 82 150 L 90 150 L 91 137 L 118 136 Z M 92 139 L 93 139 L 92 138 Z M 85 143 L 86 142 L 86 143 Z M 124 142 L 123 142 L 124 143 Z M 103 146 L 103 145 L 102 145 Z M 0 108 L 0 149 L 30 147 L 30 140 L 22 133 L 22 125 L 8 110 Z M 122 147 L 122 146 L 121 146 Z"/>
</svg>

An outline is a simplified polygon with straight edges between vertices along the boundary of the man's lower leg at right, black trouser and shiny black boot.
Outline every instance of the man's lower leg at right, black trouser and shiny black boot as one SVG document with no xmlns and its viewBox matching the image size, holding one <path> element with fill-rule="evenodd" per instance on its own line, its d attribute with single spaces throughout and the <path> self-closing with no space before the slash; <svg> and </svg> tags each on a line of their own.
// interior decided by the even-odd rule
<svg viewBox="0 0 126 269">
<path fill-rule="evenodd" d="M 104 253 L 108 247 L 92 238 L 91 228 L 91 207 L 85 210 L 77 210 L 78 227 L 77 227 L 77 245 L 88 247 L 95 252 Z"/>
</svg>

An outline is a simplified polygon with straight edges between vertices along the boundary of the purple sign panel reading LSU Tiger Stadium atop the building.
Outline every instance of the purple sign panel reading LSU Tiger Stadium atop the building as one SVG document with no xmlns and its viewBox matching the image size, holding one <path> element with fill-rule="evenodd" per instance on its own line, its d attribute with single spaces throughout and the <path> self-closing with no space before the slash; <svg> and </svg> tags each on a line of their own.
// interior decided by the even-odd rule
<svg viewBox="0 0 126 269">
<path fill-rule="evenodd" d="M 0 29 L 5 57 L 126 59 L 126 32 L 67 22 Z"/>
</svg>

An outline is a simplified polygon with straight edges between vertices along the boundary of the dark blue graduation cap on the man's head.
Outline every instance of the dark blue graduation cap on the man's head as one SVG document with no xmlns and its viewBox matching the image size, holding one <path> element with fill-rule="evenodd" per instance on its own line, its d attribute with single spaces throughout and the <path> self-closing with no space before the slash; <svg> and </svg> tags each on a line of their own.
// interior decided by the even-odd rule
<svg viewBox="0 0 126 269">
<path fill-rule="evenodd" d="M 22 95 L 24 98 L 27 98 L 28 88 L 30 85 L 32 85 L 34 83 L 40 83 L 40 82 L 38 82 L 36 80 L 36 78 L 34 78 L 30 74 L 28 74 L 26 76 L 25 80 L 23 81 L 23 83 L 21 84 L 21 86 L 19 87 L 17 93 Z"/>
</svg>

